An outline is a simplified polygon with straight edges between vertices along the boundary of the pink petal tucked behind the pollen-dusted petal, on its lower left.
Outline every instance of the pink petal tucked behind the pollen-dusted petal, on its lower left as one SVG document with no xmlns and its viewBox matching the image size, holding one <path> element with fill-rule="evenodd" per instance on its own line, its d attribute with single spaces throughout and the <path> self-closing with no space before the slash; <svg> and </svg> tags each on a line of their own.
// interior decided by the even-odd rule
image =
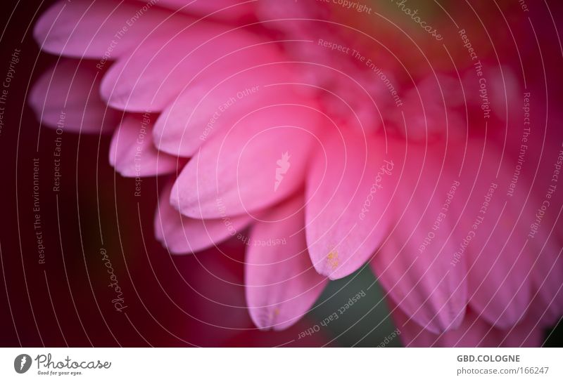
<svg viewBox="0 0 563 382">
<path fill-rule="evenodd" d="M 283 330 L 312 307 L 327 284 L 307 253 L 303 198 L 274 207 L 246 245 L 246 301 L 260 329 Z"/>
</svg>

